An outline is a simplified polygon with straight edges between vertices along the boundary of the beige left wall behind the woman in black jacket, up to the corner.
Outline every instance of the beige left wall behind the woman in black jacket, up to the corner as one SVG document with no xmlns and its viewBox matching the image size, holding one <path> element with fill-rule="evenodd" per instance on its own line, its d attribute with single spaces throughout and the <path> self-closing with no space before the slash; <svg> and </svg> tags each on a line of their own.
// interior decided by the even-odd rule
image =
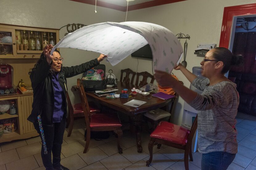
<svg viewBox="0 0 256 170">
<path fill-rule="evenodd" d="M 0 0 L 0 23 L 59 29 L 64 25 L 81 23 L 91 25 L 100 22 L 122 22 L 126 14 L 118 10 L 97 7 L 68 0 Z M 60 30 L 60 39 L 67 32 Z M 64 66 L 73 66 L 97 58 L 99 54 L 76 49 L 60 49 Z M 103 62 L 105 64 L 105 61 Z M 73 103 L 80 100 L 71 92 L 72 85 L 82 75 L 68 78 L 68 92 Z M 22 79 L 22 78 L 20 78 Z"/>
</svg>

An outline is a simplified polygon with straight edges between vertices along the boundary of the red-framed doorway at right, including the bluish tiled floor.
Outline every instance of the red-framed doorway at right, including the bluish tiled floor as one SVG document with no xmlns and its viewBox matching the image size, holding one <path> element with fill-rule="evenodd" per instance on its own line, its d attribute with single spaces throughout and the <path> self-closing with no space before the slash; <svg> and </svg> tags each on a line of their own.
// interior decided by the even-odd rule
<svg viewBox="0 0 256 170">
<path fill-rule="evenodd" d="M 229 169 L 256 169 L 256 4 L 224 8 L 220 47 L 242 54 L 245 62 L 228 77 L 237 83 L 238 152 Z"/>
</svg>

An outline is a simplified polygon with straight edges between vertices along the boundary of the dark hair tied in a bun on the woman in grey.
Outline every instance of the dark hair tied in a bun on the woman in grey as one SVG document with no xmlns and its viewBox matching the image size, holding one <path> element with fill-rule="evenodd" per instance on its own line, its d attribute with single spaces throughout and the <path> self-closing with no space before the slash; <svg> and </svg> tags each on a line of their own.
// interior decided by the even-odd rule
<svg viewBox="0 0 256 170">
<path fill-rule="evenodd" d="M 224 67 L 221 71 L 223 74 L 228 72 L 231 66 L 243 64 L 244 59 L 242 55 L 234 55 L 229 49 L 224 47 L 214 48 L 213 58 L 223 62 Z"/>
</svg>

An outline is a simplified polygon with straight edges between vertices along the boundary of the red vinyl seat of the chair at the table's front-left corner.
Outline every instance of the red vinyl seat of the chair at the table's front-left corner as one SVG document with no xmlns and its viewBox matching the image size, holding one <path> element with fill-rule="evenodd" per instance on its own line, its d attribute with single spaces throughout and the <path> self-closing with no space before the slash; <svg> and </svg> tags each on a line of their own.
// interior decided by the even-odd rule
<svg viewBox="0 0 256 170">
<path fill-rule="evenodd" d="M 90 127 L 121 127 L 122 124 L 119 121 L 119 118 L 116 114 L 92 114 Z"/>
</svg>

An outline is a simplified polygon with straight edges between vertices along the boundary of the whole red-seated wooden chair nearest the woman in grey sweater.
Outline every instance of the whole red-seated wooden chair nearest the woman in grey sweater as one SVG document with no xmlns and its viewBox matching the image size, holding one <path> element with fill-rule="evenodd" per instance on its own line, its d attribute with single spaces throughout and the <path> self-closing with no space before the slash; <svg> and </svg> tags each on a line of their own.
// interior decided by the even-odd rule
<svg viewBox="0 0 256 170">
<path fill-rule="evenodd" d="M 151 133 L 151 140 L 148 143 L 150 158 L 147 161 L 147 166 L 150 165 L 153 159 L 153 147 L 157 145 L 160 149 L 161 144 L 185 150 L 184 164 L 188 170 L 188 156 L 193 161 L 192 157 L 192 139 L 197 129 L 197 116 L 190 130 L 181 126 L 162 121 L 158 124 L 155 130 Z"/>
</svg>

